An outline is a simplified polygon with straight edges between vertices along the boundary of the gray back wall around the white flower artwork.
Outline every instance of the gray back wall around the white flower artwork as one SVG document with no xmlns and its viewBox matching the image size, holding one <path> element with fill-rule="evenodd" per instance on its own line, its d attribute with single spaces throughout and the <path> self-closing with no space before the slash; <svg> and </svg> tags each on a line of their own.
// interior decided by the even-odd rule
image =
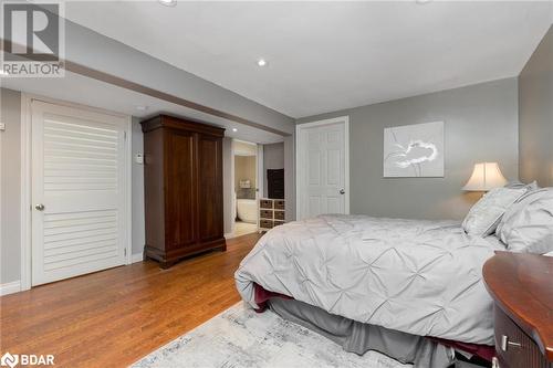
<svg viewBox="0 0 553 368">
<path fill-rule="evenodd" d="M 518 178 L 518 86 L 508 78 L 320 116 L 349 116 L 351 212 L 377 217 L 462 219 L 477 193 L 465 193 L 474 162 L 498 161 Z M 385 127 L 444 120 L 445 178 L 383 178 Z"/>
</svg>

